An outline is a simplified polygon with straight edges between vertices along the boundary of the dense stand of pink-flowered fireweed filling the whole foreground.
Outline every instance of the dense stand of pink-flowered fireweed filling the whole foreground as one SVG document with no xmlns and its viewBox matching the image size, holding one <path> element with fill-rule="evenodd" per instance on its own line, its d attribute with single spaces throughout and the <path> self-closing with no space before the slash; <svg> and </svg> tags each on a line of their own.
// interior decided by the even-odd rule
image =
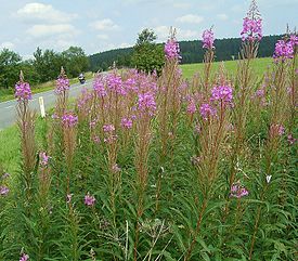
<svg viewBox="0 0 298 261">
<path fill-rule="evenodd" d="M 15 86 L 22 162 L 0 168 L 0 260 L 297 260 L 297 34 L 258 78 L 252 1 L 237 71 L 185 81 L 172 30 L 160 76 L 98 74 L 68 101 L 64 69 L 46 119 Z M 42 122 L 42 136 L 35 133 Z"/>
</svg>

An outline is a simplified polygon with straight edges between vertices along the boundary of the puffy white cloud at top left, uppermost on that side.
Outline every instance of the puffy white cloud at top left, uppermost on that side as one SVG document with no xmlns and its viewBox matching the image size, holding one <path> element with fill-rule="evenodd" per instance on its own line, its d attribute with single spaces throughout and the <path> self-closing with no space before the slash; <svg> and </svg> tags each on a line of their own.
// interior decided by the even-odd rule
<svg viewBox="0 0 298 261">
<path fill-rule="evenodd" d="M 77 14 L 62 12 L 51 4 L 31 2 L 17 10 L 16 16 L 34 23 L 42 21 L 47 24 L 62 24 L 73 21 Z"/>
</svg>

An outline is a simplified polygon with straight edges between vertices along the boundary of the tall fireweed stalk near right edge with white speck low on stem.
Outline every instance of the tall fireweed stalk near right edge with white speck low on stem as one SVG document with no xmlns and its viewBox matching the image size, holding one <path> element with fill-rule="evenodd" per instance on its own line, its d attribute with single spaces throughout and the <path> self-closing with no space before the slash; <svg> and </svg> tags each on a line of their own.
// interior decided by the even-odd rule
<svg viewBox="0 0 298 261">
<path fill-rule="evenodd" d="M 285 49 L 281 50 L 281 44 L 284 43 L 281 43 L 281 41 L 276 43 L 273 55 L 275 66 L 273 68 L 272 79 L 270 82 L 270 123 L 263 157 L 264 173 L 262 177 L 262 184 L 260 190 L 260 200 L 264 200 L 268 188 L 270 186 L 270 181 L 271 179 L 275 178 L 272 175 L 272 173 L 276 172 L 274 166 L 276 166 L 278 162 L 277 153 L 281 146 L 282 136 L 285 134 L 284 125 L 286 123 L 288 114 L 287 104 L 290 104 L 287 103 L 288 93 L 286 87 L 290 78 L 290 74 L 288 71 L 290 66 L 288 65 L 293 58 L 293 49 L 287 49 L 285 47 Z M 278 187 L 278 191 L 283 191 L 282 187 Z M 256 211 L 254 232 L 250 240 L 249 260 L 252 260 L 254 258 L 254 249 L 261 214 L 262 206 L 259 206 Z"/>
</svg>

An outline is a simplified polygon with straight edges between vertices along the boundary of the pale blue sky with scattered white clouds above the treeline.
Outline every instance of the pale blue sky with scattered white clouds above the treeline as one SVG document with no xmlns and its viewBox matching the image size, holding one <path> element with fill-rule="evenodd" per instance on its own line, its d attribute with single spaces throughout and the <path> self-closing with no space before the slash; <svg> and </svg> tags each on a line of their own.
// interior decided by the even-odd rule
<svg viewBox="0 0 298 261">
<path fill-rule="evenodd" d="M 81 47 L 87 54 L 134 44 L 143 28 L 166 41 L 200 39 L 213 26 L 216 38 L 238 37 L 250 0 L 0 0 L 0 50 L 24 58 L 41 49 Z M 263 34 L 298 26 L 298 0 L 257 0 Z"/>
</svg>

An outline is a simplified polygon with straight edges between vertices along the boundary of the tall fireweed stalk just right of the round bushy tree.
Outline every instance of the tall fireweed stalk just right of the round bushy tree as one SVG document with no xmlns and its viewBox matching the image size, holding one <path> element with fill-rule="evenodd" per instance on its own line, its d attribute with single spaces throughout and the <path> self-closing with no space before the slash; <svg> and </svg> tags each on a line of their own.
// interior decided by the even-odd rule
<svg viewBox="0 0 298 261">
<path fill-rule="evenodd" d="M 173 149 L 178 129 L 178 118 L 181 110 L 181 84 L 182 71 L 179 68 L 180 48 L 176 39 L 176 30 L 171 28 L 170 37 L 165 44 L 166 63 L 158 80 L 157 104 L 159 134 L 160 134 L 160 167 L 164 168 L 167 157 L 172 169 Z M 158 198 L 160 191 L 160 173 L 157 181 L 157 199 L 156 208 L 158 208 Z M 173 186 L 173 177 L 171 173 L 171 187 Z"/>
</svg>

